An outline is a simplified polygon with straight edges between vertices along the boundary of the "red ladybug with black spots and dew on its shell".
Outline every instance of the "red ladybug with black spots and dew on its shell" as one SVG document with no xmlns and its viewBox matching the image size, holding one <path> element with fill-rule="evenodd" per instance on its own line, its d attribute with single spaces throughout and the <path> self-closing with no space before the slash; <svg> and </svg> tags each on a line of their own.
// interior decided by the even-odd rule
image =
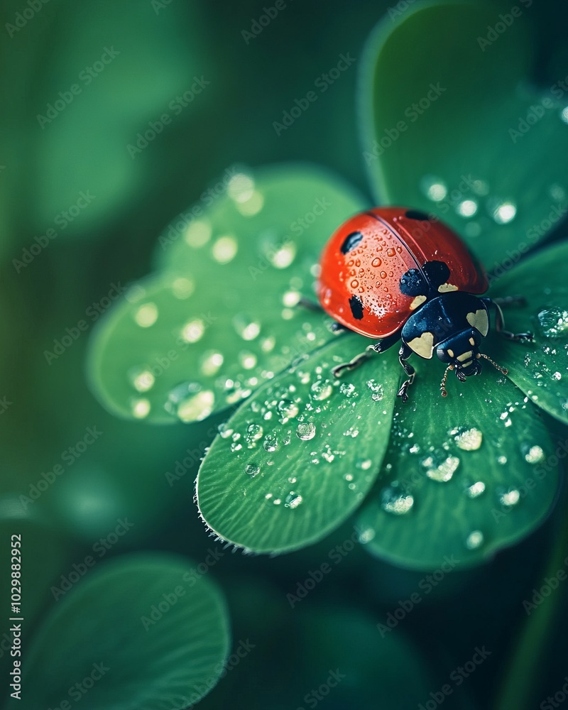
<svg viewBox="0 0 568 710">
<path fill-rule="evenodd" d="M 336 328 L 352 330 L 378 343 L 351 362 L 333 368 L 339 376 L 369 356 L 400 342 L 398 359 L 408 376 L 398 391 L 403 402 L 415 379 L 411 355 L 447 364 L 460 381 L 479 375 L 481 359 L 507 373 L 479 352 L 489 332 L 490 309 L 496 331 L 514 341 L 530 342 L 529 332 L 504 329 L 501 305 L 523 303 L 522 297 L 481 297 L 488 288 L 481 263 L 459 236 L 437 217 L 405 207 L 375 207 L 348 219 L 324 248 L 317 283 L 320 305 Z"/>
</svg>

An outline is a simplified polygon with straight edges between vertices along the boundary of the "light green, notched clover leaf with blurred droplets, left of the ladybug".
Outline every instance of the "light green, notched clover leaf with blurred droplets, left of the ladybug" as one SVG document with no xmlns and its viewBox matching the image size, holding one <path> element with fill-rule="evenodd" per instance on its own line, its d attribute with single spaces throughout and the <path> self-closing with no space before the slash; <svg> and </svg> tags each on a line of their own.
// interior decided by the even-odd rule
<svg viewBox="0 0 568 710">
<path fill-rule="evenodd" d="M 235 168 L 219 185 L 160 237 L 168 271 L 97 324 L 89 380 L 117 415 L 204 419 L 332 337 L 320 312 L 295 304 L 315 300 L 320 250 L 359 197 L 301 166 Z"/>
</svg>

